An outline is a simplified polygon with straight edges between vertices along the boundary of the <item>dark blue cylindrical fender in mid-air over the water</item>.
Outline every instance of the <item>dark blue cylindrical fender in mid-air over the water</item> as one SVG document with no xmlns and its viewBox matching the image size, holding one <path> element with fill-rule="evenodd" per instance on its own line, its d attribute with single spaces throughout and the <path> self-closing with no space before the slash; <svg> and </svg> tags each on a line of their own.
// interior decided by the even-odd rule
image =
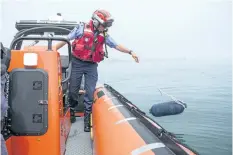
<svg viewBox="0 0 233 155">
<path fill-rule="evenodd" d="M 181 101 L 169 101 L 159 104 L 154 104 L 150 113 L 155 117 L 177 115 L 184 111 L 187 105 Z"/>
</svg>

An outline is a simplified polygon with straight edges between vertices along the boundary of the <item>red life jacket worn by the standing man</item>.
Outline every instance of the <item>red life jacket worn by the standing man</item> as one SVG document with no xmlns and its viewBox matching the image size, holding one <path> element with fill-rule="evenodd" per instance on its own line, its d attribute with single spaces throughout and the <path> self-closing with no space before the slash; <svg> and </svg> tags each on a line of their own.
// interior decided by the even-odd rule
<svg viewBox="0 0 233 155">
<path fill-rule="evenodd" d="M 99 33 L 95 36 L 93 21 L 84 24 L 84 31 L 81 38 L 72 42 L 73 55 L 83 61 L 98 63 L 104 59 L 105 52 L 103 45 L 105 36 Z"/>
</svg>

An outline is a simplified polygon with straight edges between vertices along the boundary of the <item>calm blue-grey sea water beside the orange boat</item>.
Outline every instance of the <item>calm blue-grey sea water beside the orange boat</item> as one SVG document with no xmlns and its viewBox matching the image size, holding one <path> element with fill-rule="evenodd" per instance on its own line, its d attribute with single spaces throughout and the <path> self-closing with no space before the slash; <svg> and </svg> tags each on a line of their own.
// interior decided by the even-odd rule
<svg viewBox="0 0 233 155">
<path fill-rule="evenodd" d="M 148 113 L 171 100 L 158 88 L 187 103 L 180 115 L 153 117 L 166 130 L 202 155 L 232 154 L 231 60 L 146 59 L 107 60 L 99 66 L 100 82 L 110 84 Z"/>
</svg>

